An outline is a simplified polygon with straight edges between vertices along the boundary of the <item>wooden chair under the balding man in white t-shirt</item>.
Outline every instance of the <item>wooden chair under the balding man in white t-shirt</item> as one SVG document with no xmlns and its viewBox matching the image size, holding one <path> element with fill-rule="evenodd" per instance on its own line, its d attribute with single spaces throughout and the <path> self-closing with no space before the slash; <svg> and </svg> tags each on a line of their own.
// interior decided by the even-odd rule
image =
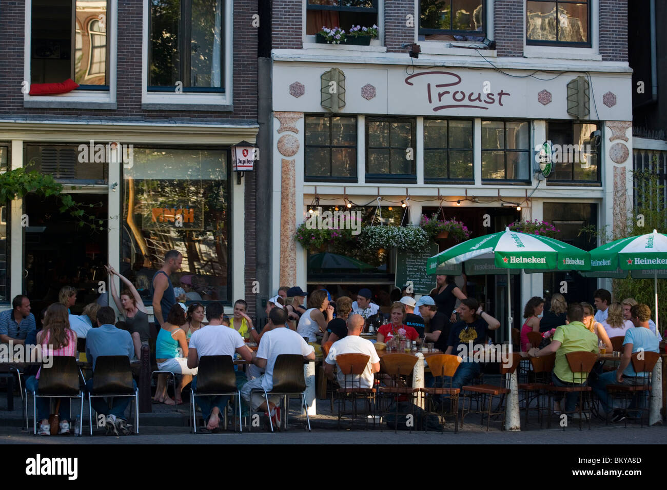
<svg viewBox="0 0 667 490">
<path fill-rule="evenodd" d="M 363 415 L 375 415 L 372 403 L 375 402 L 376 389 L 374 387 L 362 387 L 361 375 L 368 367 L 370 356 L 365 354 L 340 354 L 336 356 L 336 364 L 341 373 L 345 373 L 345 383 L 336 390 L 338 394 L 338 429 L 340 430 L 340 419 L 344 415 L 352 415 L 350 428 L 354 426 L 354 419 L 358 415 L 357 400 L 364 400 L 368 409 Z M 356 379 L 355 379 L 356 378 Z M 350 401 L 352 410 L 346 411 L 346 405 Z M 368 425 L 368 416 L 365 417 Z M 373 428 L 375 428 L 375 417 L 373 417 Z"/>
</svg>

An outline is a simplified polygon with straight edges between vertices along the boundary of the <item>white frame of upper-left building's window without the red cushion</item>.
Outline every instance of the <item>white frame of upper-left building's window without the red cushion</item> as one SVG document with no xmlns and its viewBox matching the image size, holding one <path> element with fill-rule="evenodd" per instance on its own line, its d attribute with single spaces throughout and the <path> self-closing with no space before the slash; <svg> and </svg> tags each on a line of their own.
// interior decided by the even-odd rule
<svg viewBox="0 0 667 490">
<path fill-rule="evenodd" d="M 150 12 L 148 0 L 143 1 L 143 22 L 141 31 L 141 109 L 169 110 L 233 110 L 233 1 L 223 0 L 224 9 L 224 93 L 173 93 L 148 91 L 148 23 Z M 222 106 L 222 107 L 221 107 Z"/>
</svg>

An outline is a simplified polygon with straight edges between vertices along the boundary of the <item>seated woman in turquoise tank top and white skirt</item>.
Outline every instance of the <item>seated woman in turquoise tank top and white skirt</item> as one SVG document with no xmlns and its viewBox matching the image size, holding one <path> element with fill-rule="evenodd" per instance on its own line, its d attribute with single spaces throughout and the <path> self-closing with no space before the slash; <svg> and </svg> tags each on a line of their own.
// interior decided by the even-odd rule
<svg viewBox="0 0 667 490">
<path fill-rule="evenodd" d="M 197 375 L 196 367 L 194 369 L 187 367 L 187 341 L 185 341 L 185 332 L 181 329 L 183 323 L 185 323 L 183 309 L 179 305 L 173 305 L 169 310 L 169 315 L 167 315 L 167 321 L 157 334 L 157 342 L 155 343 L 157 369 L 171 371 L 175 375 L 182 375 L 174 393 L 176 401 L 169 398 L 167 384 L 158 378 L 153 401 L 165 405 L 181 405 L 183 403 L 183 399 L 181 399 L 183 387 L 192 381 L 193 376 Z M 179 346 L 182 353 L 178 351 Z"/>
</svg>

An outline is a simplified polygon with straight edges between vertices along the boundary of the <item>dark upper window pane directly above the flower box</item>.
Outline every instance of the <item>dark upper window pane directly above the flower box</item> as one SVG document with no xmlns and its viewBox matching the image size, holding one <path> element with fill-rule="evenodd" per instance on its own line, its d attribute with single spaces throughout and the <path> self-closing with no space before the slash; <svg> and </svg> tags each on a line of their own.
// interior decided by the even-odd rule
<svg viewBox="0 0 667 490">
<path fill-rule="evenodd" d="M 322 27 L 340 27 L 349 32 L 353 25 L 378 25 L 379 0 L 306 0 L 305 33 L 312 35 Z"/>
</svg>

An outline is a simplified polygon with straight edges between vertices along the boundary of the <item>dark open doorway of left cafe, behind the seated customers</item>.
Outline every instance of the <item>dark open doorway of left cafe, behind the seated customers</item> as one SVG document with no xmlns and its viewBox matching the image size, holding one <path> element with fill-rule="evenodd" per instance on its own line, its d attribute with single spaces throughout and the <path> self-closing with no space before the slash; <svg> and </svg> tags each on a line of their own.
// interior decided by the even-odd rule
<svg viewBox="0 0 667 490">
<path fill-rule="evenodd" d="M 41 311 L 58 301 L 63 286 L 77 289 L 71 313 L 99 297 L 99 281 L 107 280 L 107 195 L 73 194 L 85 217 L 59 212 L 59 199 L 28 194 L 23 201 L 27 226 L 23 227 L 23 290 L 30 298 L 39 323 Z M 81 221 L 85 224 L 80 225 Z M 101 223 L 100 223 L 101 221 Z M 95 223 L 93 229 L 90 223 Z M 106 287 L 106 286 L 105 286 Z"/>
</svg>

